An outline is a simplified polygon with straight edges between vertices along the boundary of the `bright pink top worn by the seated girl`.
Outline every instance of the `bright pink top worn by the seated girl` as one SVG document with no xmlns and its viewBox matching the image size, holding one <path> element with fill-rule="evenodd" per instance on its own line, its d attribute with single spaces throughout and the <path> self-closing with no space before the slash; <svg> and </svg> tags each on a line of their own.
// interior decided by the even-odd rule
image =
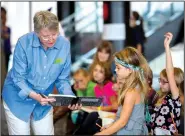
<svg viewBox="0 0 185 136">
<path fill-rule="evenodd" d="M 117 96 L 116 92 L 112 89 L 113 83 L 108 82 L 102 88 L 97 84 L 94 87 L 96 97 L 103 97 L 103 106 L 111 105 L 110 97 Z"/>
</svg>

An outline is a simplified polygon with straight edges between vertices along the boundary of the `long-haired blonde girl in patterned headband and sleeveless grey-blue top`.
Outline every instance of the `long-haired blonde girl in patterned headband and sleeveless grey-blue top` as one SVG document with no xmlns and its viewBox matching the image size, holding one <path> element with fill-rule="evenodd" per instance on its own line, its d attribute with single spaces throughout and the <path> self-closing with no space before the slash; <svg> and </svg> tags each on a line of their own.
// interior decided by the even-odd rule
<svg viewBox="0 0 185 136">
<path fill-rule="evenodd" d="M 115 121 L 96 135 L 146 135 L 144 101 L 148 90 L 145 79 L 148 64 L 132 47 L 116 53 L 115 64 L 117 78 L 123 84 L 118 93 L 119 108 Z"/>
</svg>

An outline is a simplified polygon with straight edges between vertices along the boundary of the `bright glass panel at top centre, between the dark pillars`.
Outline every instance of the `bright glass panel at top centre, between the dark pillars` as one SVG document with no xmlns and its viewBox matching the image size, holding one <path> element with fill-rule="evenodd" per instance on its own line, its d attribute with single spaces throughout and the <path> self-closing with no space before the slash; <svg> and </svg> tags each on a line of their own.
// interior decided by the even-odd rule
<svg viewBox="0 0 185 136">
<path fill-rule="evenodd" d="M 96 10 L 96 4 L 98 10 Z M 75 16 L 76 23 L 75 29 L 80 32 L 102 32 L 103 31 L 103 2 L 76 2 L 75 3 L 75 12 L 79 11 L 79 14 Z M 98 18 L 97 18 L 98 17 Z M 97 19 L 97 21 L 96 21 Z"/>
</svg>

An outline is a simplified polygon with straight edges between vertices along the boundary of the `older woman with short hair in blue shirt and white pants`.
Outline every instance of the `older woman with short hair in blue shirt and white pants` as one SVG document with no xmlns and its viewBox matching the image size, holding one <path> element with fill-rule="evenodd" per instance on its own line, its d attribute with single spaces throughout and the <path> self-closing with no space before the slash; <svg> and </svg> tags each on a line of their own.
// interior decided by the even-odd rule
<svg viewBox="0 0 185 136">
<path fill-rule="evenodd" d="M 34 32 L 18 39 L 3 87 L 3 104 L 10 135 L 54 135 L 53 108 L 39 93 L 48 95 L 56 85 L 63 94 L 73 95 L 69 83 L 70 43 L 59 35 L 58 18 L 49 11 L 34 16 Z M 69 106 L 79 108 L 78 105 Z"/>
</svg>

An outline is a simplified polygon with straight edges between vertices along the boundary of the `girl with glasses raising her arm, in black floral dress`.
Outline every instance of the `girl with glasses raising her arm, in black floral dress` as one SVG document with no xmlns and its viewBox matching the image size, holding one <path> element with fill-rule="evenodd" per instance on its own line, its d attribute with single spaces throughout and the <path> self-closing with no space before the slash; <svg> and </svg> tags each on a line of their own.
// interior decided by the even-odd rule
<svg viewBox="0 0 185 136">
<path fill-rule="evenodd" d="M 184 80 L 184 74 L 180 68 L 173 67 L 169 46 L 172 37 L 171 33 L 165 34 L 166 69 L 163 69 L 160 73 L 159 99 L 151 114 L 152 134 L 156 135 L 158 135 L 158 132 L 168 132 L 175 135 L 178 133 L 180 126 L 180 96 L 182 95 L 180 84 Z"/>
</svg>

